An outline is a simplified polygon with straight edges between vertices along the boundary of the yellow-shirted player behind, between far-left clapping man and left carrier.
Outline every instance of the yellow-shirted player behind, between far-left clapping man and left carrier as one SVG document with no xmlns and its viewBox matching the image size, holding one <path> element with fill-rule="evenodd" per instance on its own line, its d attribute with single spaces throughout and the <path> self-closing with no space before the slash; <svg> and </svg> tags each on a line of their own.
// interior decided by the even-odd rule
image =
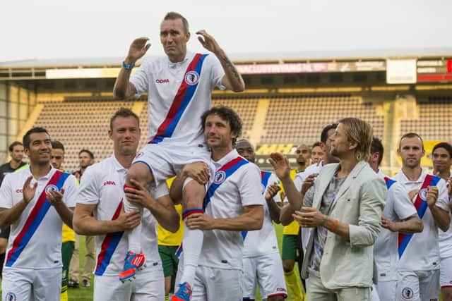
<svg viewBox="0 0 452 301">
<path fill-rule="evenodd" d="M 61 142 L 54 140 L 52 141 L 52 156 L 50 163 L 54 168 L 59 170 L 64 162 L 64 146 Z M 69 281 L 69 262 L 71 262 L 73 247 L 76 242 L 76 233 L 63 223 L 63 233 L 62 233 L 62 244 L 61 244 L 61 258 L 63 260 L 63 278 L 61 278 L 61 301 L 68 300 L 68 281 Z"/>
</svg>

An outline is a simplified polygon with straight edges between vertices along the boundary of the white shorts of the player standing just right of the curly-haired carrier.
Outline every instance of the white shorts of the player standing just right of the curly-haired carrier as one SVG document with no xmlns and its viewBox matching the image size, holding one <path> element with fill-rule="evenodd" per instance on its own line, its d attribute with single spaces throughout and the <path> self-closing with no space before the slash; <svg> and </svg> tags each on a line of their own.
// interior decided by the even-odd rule
<svg viewBox="0 0 452 301">
<path fill-rule="evenodd" d="M 280 253 L 264 254 L 243 259 L 244 299 L 256 299 L 256 283 L 263 297 L 282 295 L 287 297 L 283 262 Z"/>
</svg>

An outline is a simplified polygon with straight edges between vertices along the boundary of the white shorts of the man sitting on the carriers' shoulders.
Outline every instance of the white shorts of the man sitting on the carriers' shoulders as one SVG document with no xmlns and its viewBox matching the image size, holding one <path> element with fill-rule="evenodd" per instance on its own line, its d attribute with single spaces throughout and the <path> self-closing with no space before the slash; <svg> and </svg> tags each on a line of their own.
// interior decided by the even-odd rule
<svg viewBox="0 0 452 301">
<path fill-rule="evenodd" d="M 215 166 L 210 160 L 210 152 L 206 145 L 184 147 L 159 143 L 147 144 L 133 159 L 132 164 L 146 164 L 153 173 L 155 185 L 168 178 L 177 176 L 185 164 L 204 162 L 210 170 L 210 179 L 215 175 Z"/>
</svg>

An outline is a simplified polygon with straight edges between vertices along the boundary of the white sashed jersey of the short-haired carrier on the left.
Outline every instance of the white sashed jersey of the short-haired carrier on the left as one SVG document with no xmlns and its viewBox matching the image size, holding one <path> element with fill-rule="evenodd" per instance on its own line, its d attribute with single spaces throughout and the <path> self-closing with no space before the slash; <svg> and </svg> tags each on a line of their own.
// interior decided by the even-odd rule
<svg viewBox="0 0 452 301">
<path fill-rule="evenodd" d="M 117 219 L 122 211 L 124 183 L 127 169 L 113 156 L 86 168 L 81 178 L 78 204 L 96 205 L 95 219 L 101 221 Z M 166 183 L 157 188 L 153 197 L 167 195 Z M 155 218 L 148 209 L 143 210 L 141 220 L 141 246 L 148 262 L 160 262 L 157 247 Z M 118 275 L 124 267 L 124 257 L 129 246 L 124 232 L 96 236 L 96 265 L 94 274 Z"/>
</svg>

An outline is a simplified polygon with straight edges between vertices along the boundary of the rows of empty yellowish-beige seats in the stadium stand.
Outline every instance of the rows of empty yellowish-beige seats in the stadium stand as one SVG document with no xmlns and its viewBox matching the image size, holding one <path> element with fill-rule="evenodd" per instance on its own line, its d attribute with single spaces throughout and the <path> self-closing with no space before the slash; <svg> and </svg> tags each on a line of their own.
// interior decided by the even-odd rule
<svg viewBox="0 0 452 301">
<path fill-rule="evenodd" d="M 397 119 L 396 124 L 400 126 L 396 127 L 396 133 L 391 132 L 394 143 L 401 133 L 409 131 L 420 133 L 426 141 L 451 140 L 452 97 L 423 97 L 413 104 L 418 113 Z M 40 102 L 40 105 L 44 107 L 34 125 L 44 126 L 52 134 L 52 139 L 64 142 L 64 168 L 70 171 L 78 168 L 78 151 L 82 148 L 92 150 L 96 161 L 112 154 L 112 145 L 107 137 L 108 121 L 112 113 L 121 106 L 135 110 L 140 117 L 140 148 L 148 138 L 148 113 L 143 99 L 118 102 L 100 97 L 69 99 L 64 102 L 45 101 Z M 264 146 L 259 151 L 259 154 L 264 155 L 274 151 L 288 152 L 302 142 L 312 144 L 319 140 L 319 130 L 324 125 L 346 116 L 368 121 L 374 127 L 374 135 L 385 137 L 384 123 L 390 117 L 377 109 L 377 102 L 353 94 L 216 96 L 213 105 L 230 106 L 239 113 L 244 123 L 242 137 L 250 139 L 250 133 L 257 129 L 258 136 L 254 142 L 258 149 Z M 263 114 L 256 113 L 260 111 L 259 108 L 264 108 Z M 412 116 L 416 118 L 411 118 Z M 400 164 L 397 157 L 395 160 L 396 165 Z M 430 165 L 428 158 L 423 163 Z"/>
</svg>

